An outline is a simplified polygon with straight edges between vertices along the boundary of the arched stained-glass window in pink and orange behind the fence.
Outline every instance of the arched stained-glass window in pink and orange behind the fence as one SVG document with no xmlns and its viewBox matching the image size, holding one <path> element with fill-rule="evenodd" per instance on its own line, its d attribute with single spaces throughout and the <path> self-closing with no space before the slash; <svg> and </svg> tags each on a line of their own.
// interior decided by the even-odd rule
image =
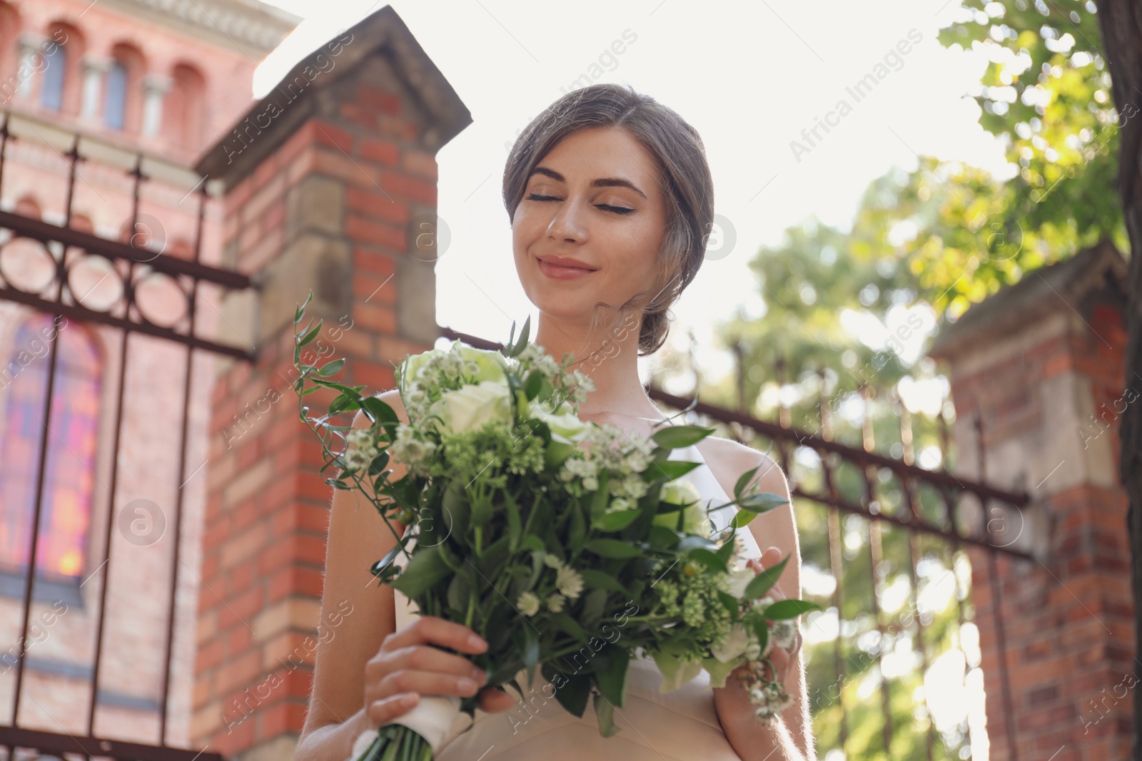
<svg viewBox="0 0 1142 761">
<path fill-rule="evenodd" d="M 51 341 L 58 356 L 35 565 L 37 576 L 64 581 L 88 565 L 103 361 L 87 329 L 53 315 L 26 319 L 0 366 L 0 570 L 27 572 Z"/>
</svg>

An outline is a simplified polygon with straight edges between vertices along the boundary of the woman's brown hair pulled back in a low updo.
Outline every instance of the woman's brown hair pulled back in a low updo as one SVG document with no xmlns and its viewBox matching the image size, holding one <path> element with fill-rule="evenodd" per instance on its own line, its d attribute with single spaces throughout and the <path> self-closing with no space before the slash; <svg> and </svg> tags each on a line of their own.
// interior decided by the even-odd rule
<svg viewBox="0 0 1142 761">
<path fill-rule="evenodd" d="M 621 127 L 654 156 L 666 201 L 666 235 L 652 286 L 620 306 L 596 302 L 592 330 L 600 322 L 598 307 L 641 313 L 638 354 L 653 354 L 666 341 L 670 305 L 698 274 L 714 226 L 714 179 L 693 127 L 629 86 L 601 83 L 572 90 L 536 116 L 516 139 L 504 168 L 504 205 L 512 220 L 528 178 L 544 156 L 571 133 L 593 127 Z"/>
</svg>

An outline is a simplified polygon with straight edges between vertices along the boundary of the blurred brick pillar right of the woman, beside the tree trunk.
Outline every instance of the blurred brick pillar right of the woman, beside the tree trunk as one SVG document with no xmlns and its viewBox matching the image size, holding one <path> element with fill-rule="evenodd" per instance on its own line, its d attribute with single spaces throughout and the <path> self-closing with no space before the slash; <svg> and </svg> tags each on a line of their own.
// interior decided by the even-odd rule
<svg viewBox="0 0 1142 761">
<path fill-rule="evenodd" d="M 950 365 L 956 470 L 979 477 L 982 448 L 984 480 L 1031 495 L 1019 512 L 971 510 L 994 544 L 1035 557 L 998 554 L 991 566 L 990 551 L 968 553 L 992 761 L 1131 752 L 1134 625 L 1118 416 L 1142 404 L 1142 378 L 1124 383 L 1125 277 L 1112 245 L 1085 250 L 971 308 L 933 347 Z"/>
</svg>

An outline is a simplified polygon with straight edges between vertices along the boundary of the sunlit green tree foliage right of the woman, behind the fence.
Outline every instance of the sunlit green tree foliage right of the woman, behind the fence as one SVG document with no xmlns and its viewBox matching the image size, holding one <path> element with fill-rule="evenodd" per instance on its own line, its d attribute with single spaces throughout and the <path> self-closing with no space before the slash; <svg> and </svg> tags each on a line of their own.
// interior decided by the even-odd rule
<svg viewBox="0 0 1142 761">
<path fill-rule="evenodd" d="M 735 347 L 742 359 L 740 398 L 733 381 L 705 389 L 703 398 L 740 405 L 763 419 L 780 413 L 791 427 L 818 435 L 827 418 L 835 439 L 859 447 L 870 432 L 877 451 L 898 458 L 904 452 L 901 429 L 907 428 L 917 454 L 936 451 L 941 426 L 935 411 L 914 411 L 901 420 L 894 404 L 904 383 L 939 382 L 934 364 L 907 362 L 900 347 L 872 343 L 845 321 L 860 315 L 884 326 L 893 308 L 927 308 L 934 318 L 934 325 L 925 323 L 935 329 L 927 330 L 931 337 L 1004 285 L 1101 240 L 1128 250 L 1116 156 L 1118 131 L 1126 120 L 1139 118 L 1139 108 L 1136 102 L 1113 107 L 1100 37 L 1093 2 L 964 0 L 939 40 L 949 48 L 986 52 L 990 63 L 971 95 L 980 105 L 981 126 L 1000 141 L 1006 173 L 922 156 L 915 171 L 894 170 L 869 186 L 851 228 L 810 220 L 788 229 L 781 244 L 763 248 L 750 268 L 764 313 L 740 313 L 718 330 L 722 342 Z M 869 389 L 867 400 L 859 395 L 862 386 Z M 950 405 L 944 403 L 942 411 L 950 415 Z M 764 442 L 754 446 L 767 448 Z M 951 468 L 934 459 L 923 464 Z M 806 450 L 795 453 L 789 471 L 809 493 L 825 487 L 821 463 Z M 874 476 L 876 509 L 906 516 L 910 508 L 900 484 L 887 472 Z M 861 501 L 863 478 L 855 467 L 836 467 L 833 485 L 844 501 Z M 917 509 L 947 525 L 936 494 L 922 489 Z M 960 639 L 962 621 L 973 617 L 966 558 L 954 557 L 934 539 L 912 544 L 908 532 L 887 525 L 872 537 L 867 519 L 839 515 L 830 520 L 825 505 L 807 500 L 797 503 L 795 515 L 803 580 L 813 576 L 839 586 L 839 635 L 830 639 L 817 631 L 817 643 L 805 647 L 822 756 L 842 746 L 844 722 L 847 758 L 922 761 L 928 758 L 928 742 L 932 758 L 962 758 L 966 722 L 943 732 L 933 726 L 918 650 L 922 625 L 930 658 L 959 648 L 967 667 L 978 665 L 978 650 Z M 830 529 L 838 542 L 839 578 L 830 570 Z M 875 569 L 874 548 L 882 558 Z M 914 564 L 922 598 L 925 590 L 941 588 L 939 609 L 916 607 L 909 577 Z M 909 590 L 902 608 L 882 610 L 877 620 L 874 594 L 883 602 L 886 590 L 901 585 Z M 831 593 L 806 591 L 803 597 L 837 613 Z M 821 621 L 809 615 L 809 629 Z M 915 662 L 884 679 L 884 699 L 879 664 L 899 657 L 893 654 L 901 648 L 910 648 Z"/>
</svg>

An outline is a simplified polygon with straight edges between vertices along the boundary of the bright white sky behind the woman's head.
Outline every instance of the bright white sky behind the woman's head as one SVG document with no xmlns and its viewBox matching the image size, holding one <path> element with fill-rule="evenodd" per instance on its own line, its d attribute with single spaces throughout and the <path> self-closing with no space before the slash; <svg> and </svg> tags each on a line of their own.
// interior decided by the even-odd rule
<svg viewBox="0 0 1142 761">
<path fill-rule="evenodd" d="M 383 7 L 272 2 L 305 22 L 258 67 L 257 97 L 300 57 Z M 711 380 L 730 369 L 711 340 L 714 323 L 739 306 L 758 314 L 761 289 L 746 267 L 758 245 L 777 243 L 814 213 L 847 225 L 868 183 L 893 164 L 914 169 L 917 154 L 1003 167 L 998 144 L 976 121 L 979 107 L 964 97 L 986 59 L 935 39 L 959 0 L 582 0 L 573 13 L 521 0 L 392 5 L 473 115 L 437 155 L 439 212 L 451 233 L 436 267 L 437 321 L 484 338 L 506 340 L 512 319 L 522 324 L 533 310 L 500 201 L 505 143 L 595 63 L 603 70 L 596 81 L 629 83 L 669 105 L 706 144 L 716 211 L 733 232 L 711 236 L 702 269 L 671 309 L 670 340 L 683 346 L 691 327 Z M 616 40 L 626 41 L 617 56 L 609 51 Z M 901 41 L 903 55 L 895 50 Z M 858 100 L 846 88 L 869 73 L 883 79 Z M 842 99 L 851 108 L 843 115 L 835 111 Z M 802 130 L 818 119 L 833 126 L 810 144 Z M 793 140 L 807 151 L 795 153 Z M 718 243 L 731 235 L 732 248 Z"/>
</svg>

